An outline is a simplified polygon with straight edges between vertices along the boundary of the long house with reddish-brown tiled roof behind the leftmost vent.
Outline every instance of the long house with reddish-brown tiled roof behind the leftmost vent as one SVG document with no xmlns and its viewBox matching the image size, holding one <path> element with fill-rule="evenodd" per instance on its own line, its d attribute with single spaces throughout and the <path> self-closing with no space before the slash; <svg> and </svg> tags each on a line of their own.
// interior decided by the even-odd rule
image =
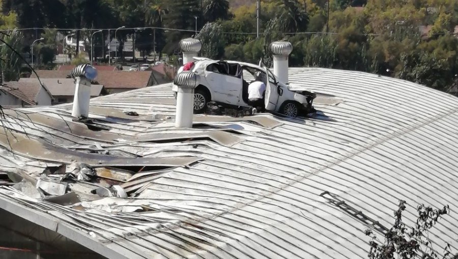
<svg viewBox="0 0 458 259">
<path fill-rule="evenodd" d="M 71 70 L 36 70 L 40 79 L 45 78 L 70 78 Z M 32 78 L 36 78 L 33 74 Z M 124 92 L 144 88 L 157 83 L 153 71 L 98 71 L 98 76 L 93 84 L 105 87 L 108 93 Z"/>
</svg>

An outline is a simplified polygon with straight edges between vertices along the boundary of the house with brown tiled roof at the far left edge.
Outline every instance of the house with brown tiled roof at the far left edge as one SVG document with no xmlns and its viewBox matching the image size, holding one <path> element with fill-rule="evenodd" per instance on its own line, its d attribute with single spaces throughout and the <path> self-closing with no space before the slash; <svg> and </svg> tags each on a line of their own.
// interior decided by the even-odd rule
<svg viewBox="0 0 458 259">
<path fill-rule="evenodd" d="M 8 91 L 10 94 L 20 99 L 23 102 L 19 104 L 21 106 L 22 104 L 47 106 L 51 105 L 53 99 L 52 94 L 46 86 L 42 86 L 38 80 L 36 82 L 5 82 L 2 85 L 2 90 Z M 13 102 L 11 105 L 19 103 L 17 100 L 12 101 L 11 98 L 5 99 L 5 105 L 9 105 L 11 102 Z M 3 103 L 0 104 L 3 105 Z"/>
</svg>

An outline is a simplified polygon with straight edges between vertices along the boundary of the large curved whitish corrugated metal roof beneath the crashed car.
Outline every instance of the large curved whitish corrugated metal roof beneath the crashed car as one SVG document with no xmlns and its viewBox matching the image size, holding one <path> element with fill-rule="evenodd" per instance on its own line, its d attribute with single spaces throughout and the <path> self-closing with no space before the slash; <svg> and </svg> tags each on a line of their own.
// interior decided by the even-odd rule
<svg viewBox="0 0 458 259">
<path fill-rule="evenodd" d="M 91 117 L 108 132 L 63 130 L 63 125 L 23 114 L 15 121 L 7 117 L 5 126 L 16 136 L 27 132 L 52 150 L 198 161 L 139 173 L 122 184 L 135 197 L 81 195 L 82 203 L 61 206 L 3 187 L 0 207 L 109 258 L 365 258 L 369 240 L 364 230 L 389 228 L 398 200 L 406 200 L 404 216 L 410 223 L 418 204 L 449 204 L 452 214 L 430 237 L 438 247 L 451 242 L 458 248 L 454 96 L 402 80 L 329 69 L 292 68 L 290 82 L 324 100 L 316 104 L 317 116 L 195 115 L 196 127 L 177 129 L 172 92 L 162 85 L 91 101 Z M 69 109 L 21 111 L 65 119 L 74 129 L 72 123 L 78 123 Z M 225 132 L 234 141 L 217 141 L 213 132 Z M 180 137 L 146 141 L 159 134 Z M 36 177 L 52 165 L 6 149 L 0 152 L 4 170 L 20 168 Z M 70 188 L 83 193 L 94 186 L 80 182 Z M 345 206 L 336 206 L 335 200 Z M 361 214 L 354 215 L 355 210 Z"/>
</svg>

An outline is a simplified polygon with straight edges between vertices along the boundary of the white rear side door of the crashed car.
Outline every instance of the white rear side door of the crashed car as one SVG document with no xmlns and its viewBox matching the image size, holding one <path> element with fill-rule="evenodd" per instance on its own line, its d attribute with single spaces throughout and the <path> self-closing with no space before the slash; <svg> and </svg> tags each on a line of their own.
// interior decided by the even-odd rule
<svg viewBox="0 0 458 259">
<path fill-rule="evenodd" d="M 213 63 L 207 66 L 205 71 L 205 77 L 212 91 L 212 101 L 238 105 L 242 91 L 241 76 L 229 75 L 228 70 L 212 69 L 211 65 L 215 64 L 221 66 L 221 64 Z"/>
</svg>

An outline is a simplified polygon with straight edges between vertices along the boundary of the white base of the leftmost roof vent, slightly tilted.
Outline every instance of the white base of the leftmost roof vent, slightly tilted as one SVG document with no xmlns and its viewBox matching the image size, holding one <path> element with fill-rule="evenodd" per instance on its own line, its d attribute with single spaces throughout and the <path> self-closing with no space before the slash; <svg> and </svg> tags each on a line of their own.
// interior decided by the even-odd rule
<svg viewBox="0 0 458 259">
<path fill-rule="evenodd" d="M 72 116 L 88 117 L 89 101 L 91 99 L 91 82 L 85 78 L 76 77 L 75 97 L 73 99 Z"/>
</svg>

